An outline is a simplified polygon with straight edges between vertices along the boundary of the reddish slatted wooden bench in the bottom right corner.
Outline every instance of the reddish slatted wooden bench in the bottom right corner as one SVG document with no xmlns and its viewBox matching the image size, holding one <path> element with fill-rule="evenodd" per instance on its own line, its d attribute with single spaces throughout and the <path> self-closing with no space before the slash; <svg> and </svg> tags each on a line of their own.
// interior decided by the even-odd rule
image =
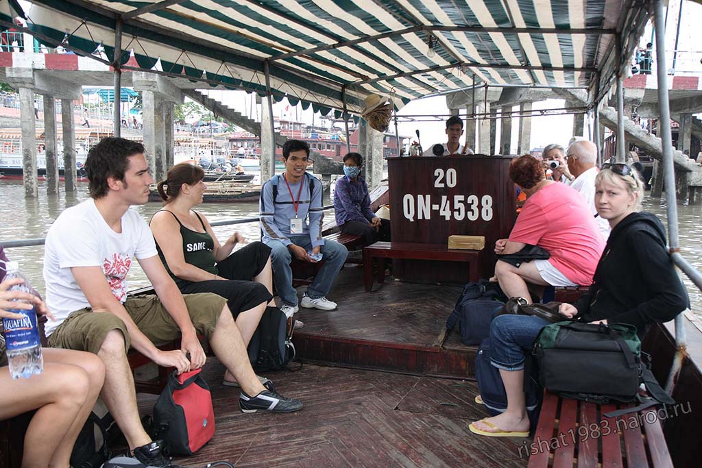
<svg viewBox="0 0 702 468">
<path fill-rule="evenodd" d="M 604 417 L 628 405 L 596 405 L 545 391 L 534 442 L 519 447 L 529 468 L 673 468 L 655 408 Z"/>
</svg>

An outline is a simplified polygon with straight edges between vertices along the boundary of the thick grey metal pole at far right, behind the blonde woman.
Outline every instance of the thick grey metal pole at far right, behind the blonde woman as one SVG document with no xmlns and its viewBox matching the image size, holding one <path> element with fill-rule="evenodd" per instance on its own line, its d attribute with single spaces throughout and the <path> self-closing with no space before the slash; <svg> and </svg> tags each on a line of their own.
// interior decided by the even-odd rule
<svg viewBox="0 0 702 468">
<path fill-rule="evenodd" d="M 656 32 L 656 63 L 658 69 L 658 107 L 660 107 L 660 120 L 658 121 L 658 137 L 661 138 L 663 149 L 663 184 L 665 185 L 665 210 L 668 215 L 668 245 L 673 261 L 682 260 L 680 257 L 680 238 L 677 230 L 677 201 L 675 199 L 675 170 L 673 168 L 673 138 L 670 135 L 670 101 L 668 100 L 668 76 L 665 72 L 665 16 L 663 13 L 663 0 L 654 1 L 654 31 Z M 675 262 L 676 265 L 682 262 Z M 683 270 L 685 271 L 685 270 Z M 688 276 L 694 275 L 685 271 Z M 699 275 L 697 275 L 699 280 Z M 682 369 L 682 362 L 686 355 L 685 330 L 683 314 L 675 317 L 675 357 L 673 366 L 670 367 L 668 382 L 665 389 L 672 393 L 677 382 L 677 376 Z"/>
</svg>

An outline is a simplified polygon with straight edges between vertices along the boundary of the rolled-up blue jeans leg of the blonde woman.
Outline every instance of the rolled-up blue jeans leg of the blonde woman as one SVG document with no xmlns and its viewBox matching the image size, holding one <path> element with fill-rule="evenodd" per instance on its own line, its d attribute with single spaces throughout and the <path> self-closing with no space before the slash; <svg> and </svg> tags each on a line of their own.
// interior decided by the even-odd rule
<svg viewBox="0 0 702 468">
<path fill-rule="evenodd" d="M 524 349 L 531 349 L 550 322 L 531 315 L 497 316 L 490 324 L 490 363 L 498 369 L 524 369 Z"/>
</svg>

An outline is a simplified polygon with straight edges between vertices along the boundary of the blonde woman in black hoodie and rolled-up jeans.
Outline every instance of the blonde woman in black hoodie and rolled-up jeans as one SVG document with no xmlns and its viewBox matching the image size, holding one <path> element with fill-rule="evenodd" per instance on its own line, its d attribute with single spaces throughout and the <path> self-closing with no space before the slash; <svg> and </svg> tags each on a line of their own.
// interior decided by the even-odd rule
<svg viewBox="0 0 702 468">
<path fill-rule="evenodd" d="M 626 164 L 604 164 L 595 178 L 597 213 L 611 234 L 595 271 L 595 282 L 575 303 L 559 312 L 587 323 L 628 323 L 643 337 L 651 323 L 670 321 L 689 299 L 668 255 L 665 229 L 656 215 L 639 213 L 644 183 Z M 526 436 L 529 417 L 524 397 L 524 356 L 548 322 L 536 316 L 501 315 L 490 326 L 491 364 L 500 370 L 507 410 L 472 422 L 484 436 Z M 525 435 L 526 434 L 526 435 Z"/>
</svg>

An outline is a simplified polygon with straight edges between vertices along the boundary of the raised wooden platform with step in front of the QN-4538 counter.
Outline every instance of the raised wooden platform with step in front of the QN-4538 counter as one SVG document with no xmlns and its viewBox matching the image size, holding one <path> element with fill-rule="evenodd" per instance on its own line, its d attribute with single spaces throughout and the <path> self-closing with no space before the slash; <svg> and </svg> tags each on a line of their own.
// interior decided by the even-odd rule
<svg viewBox="0 0 702 468">
<path fill-rule="evenodd" d="M 300 286 L 302 295 L 306 286 Z M 472 375 L 477 348 L 465 347 L 458 328 L 444 340 L 458 286 L 404 283 L 387 276 L 366 293 L 362 267 L 345 267 L 329 298 L 333 311 L 302 309 L 293 339 L 305 360 L 424 375 Z"/>
</svg>

